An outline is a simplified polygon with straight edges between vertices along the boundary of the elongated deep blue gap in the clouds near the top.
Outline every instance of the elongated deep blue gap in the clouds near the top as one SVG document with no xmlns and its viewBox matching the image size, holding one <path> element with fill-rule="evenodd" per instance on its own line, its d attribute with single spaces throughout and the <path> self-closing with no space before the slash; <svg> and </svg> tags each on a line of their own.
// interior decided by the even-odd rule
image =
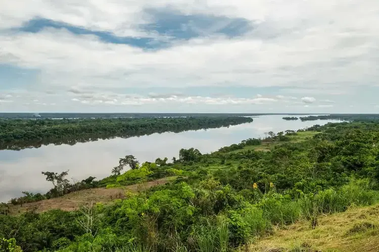
<svg viewBox="0 0 379 252">
<path fill-rule="evenodd" d="M 34 18 L 14 30 L 20 32 L 38 33 L 45 28 L 66 29 L 76 35 L 94 35 L 101 41 L 113 44 L 128 44 L 144 49 L 161 49 L 169 47 L 172 42 L 189 40 L 211 35 L 225 35 L 229 38 L 241 36 L 251 29 L 250 22 L 242 18 L 228 18 L 222 16 L 184 15 L 178 11 L 148 9 L 145 14 L 151 23 L 138 27 L 141 31 L 155 33 L 162 36 L 157 40 L 154 37 L 116 36 L 107 31 L 89 30 L 83 27 L 72 26 L 67 23 L 50 19 Z"/>
</svg>

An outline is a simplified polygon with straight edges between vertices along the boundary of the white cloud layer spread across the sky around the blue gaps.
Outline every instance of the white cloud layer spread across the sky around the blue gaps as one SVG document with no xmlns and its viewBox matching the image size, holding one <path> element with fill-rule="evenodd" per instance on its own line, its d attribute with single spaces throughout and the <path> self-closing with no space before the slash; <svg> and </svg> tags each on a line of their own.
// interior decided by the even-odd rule
<svg viewBox="0 0 379 252">
<path fill-rule="evenodd" d="M 146 8 L 167 6 L 186 15 L 244 18 L 252 22 L 254 29 L 234 39 L 197 38 L 159 51 L 105 43 L 96 36 L 77 36 L 64 29 L 29 34 L 7 30 L 40 17 L 121 36 L 159 38 L 141 31 L 138 25 L 150 19 L 143 12 Z M 305 96 L 303 103 L 314 103 L 317 98 L 320 103 L 331 104 L 334 102 L 317 95 L 354 95 L 362 85 L 376 84 L 378 22 L 376 0 L 37 0 L 32 5 L 27 0 L 6 0 L 0 8 L 0 64 L 37 70 L 38 80 L 27 91 L 43 91 L 44 95 L 49 92 L 61 102 L 72 99 L 98 105 L 172 101 L 259 105 L 273 100 L 296 100 L 288 94 L 293 93 Z M 127 99 L 108 94 L 110 90 L 135 87 L 199 86 L 279 87 L 288 93 L 265 98 L 270 101 L 259 100 L 263 98 L 259 94 L 253 99 L 248 98 L 251 94 L 245 94 L 245 98 L 158 94 Z M 35 100 L 34 94 L 22 95 L 28 101 Z M 47 104 L 55 103 L 42 95 L 34 97 L 47 100 Z"/>
</svg>

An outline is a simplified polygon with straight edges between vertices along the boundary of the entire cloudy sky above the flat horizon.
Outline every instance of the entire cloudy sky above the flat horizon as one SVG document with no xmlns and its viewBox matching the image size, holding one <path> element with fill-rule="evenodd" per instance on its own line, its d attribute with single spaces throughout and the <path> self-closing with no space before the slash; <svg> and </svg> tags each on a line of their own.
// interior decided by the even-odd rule
<svg viewBox="0 0 379 252">
<path fill-rule="evenodd" d="M 2 0 L 1 112 L 379 113 L 377 0 Z"/>
</svg>

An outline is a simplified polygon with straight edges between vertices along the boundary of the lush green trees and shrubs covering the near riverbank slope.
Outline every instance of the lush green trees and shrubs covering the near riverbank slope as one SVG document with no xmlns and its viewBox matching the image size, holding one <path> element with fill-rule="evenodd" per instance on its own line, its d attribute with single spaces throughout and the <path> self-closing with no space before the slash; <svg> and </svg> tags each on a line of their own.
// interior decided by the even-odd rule
<svg viewBox="0 0 379 252">
<path fill-rule="evenodd" d="M 122 188 L 165 176 L 172 180 L 72 212 L 12 213 L 12 206 L 3 204 L 3 249 L 250 251 L 256 239 L 278 227 L 307 221 L 317 229 L 322 215 L 377 201 L 379 123 L 328 123 L 270 133 L 267 139 L 248 139 L 210 154 L 181 149 L 179 158 L 170 161 L 140 164 L 129 155 L 111 172 L 103 180 L 80 183 Z M 64 194 L 73 186 L 65 179 L 67 172 L 42 173 L 54 192 Z M 301 243 L 277 249 L 272 251 L 317 248 Z"/>
</svg>

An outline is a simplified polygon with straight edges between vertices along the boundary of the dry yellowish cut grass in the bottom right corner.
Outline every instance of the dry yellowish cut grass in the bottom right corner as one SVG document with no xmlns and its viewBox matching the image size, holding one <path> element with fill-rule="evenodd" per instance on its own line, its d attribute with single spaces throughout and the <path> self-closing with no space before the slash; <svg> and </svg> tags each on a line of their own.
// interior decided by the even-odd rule
<svg viewBox="0 0 379 252">
<path fill-rule="evenodd" d="M 274 234 L 251 244 L 249 251 L 379 251 L 379 204 L 275 227 Z M 274 250 L 277 249 L 277 250 Z M 282 249 L 282 250 L 278 250 Z"/>
</svg>

